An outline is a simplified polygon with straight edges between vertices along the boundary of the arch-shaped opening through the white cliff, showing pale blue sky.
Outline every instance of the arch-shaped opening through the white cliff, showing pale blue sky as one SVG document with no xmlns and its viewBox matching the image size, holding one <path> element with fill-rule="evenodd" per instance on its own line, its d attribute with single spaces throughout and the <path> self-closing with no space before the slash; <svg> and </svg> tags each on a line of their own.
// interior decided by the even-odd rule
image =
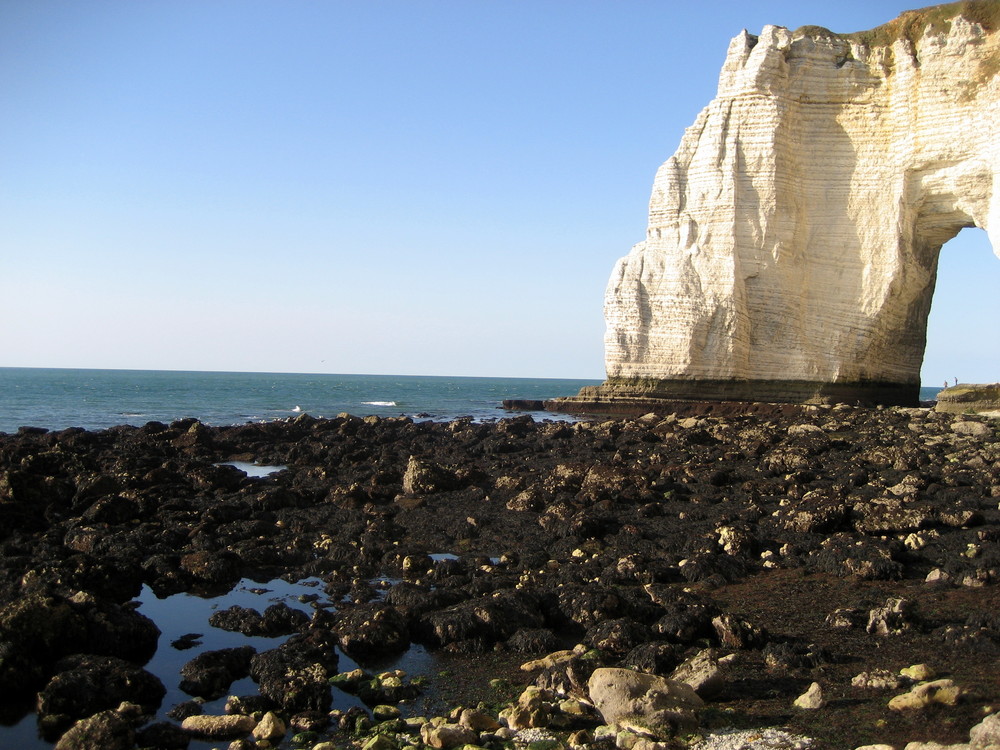
<svg viewBox="0 0 1000 750">
<path fill-rule="evenodd" d="M 982 229 L 966 228 L 946 242 L 927 317 L 920 383 L 1000 381 L 1000 258 Z"/>
</svg>

